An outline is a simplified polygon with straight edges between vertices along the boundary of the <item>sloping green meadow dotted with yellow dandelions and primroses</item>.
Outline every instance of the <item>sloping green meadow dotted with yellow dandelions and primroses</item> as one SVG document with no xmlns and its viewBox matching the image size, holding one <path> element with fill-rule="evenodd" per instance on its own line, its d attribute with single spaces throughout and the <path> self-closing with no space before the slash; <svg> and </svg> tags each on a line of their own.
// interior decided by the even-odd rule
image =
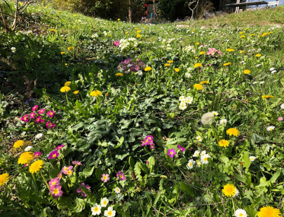
<svg viewBox="0 0 284 217">
<path fill-rule="evenodd" d="M 1 215 L 283 214 L 282 26 L 25 22 L 0 37 Z"/>
</svg>

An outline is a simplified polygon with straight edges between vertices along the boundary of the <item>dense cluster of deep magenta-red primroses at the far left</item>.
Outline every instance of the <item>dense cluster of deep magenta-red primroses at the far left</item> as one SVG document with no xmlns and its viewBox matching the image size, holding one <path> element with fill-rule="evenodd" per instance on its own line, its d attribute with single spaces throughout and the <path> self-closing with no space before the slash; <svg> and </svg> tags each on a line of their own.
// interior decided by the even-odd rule
<svg viewBox="0 0 284 217">
<path fill-rule="evenodd" d="M 44 119 L 42 119 L 41 116 L 39 115 L 42 115 L 43 113 L 45 113 L 46 109 L 39 109 L 39 115 L 37 115 L 35 113 L 35 111 L 37 111 L 37 109 L 39 108 L 38 105 L 35 105 L 34 107 L 32 107 L 32 113 L 29 113 L 29 115 L 25 115 L 25 116 L 22 116 L 21 120 L 22 121 L 25 121 L 25 123 L 29 122 L 29 120 L 32 120 L 34 119 L 34 123 L 44 123 Z M 48 113 L 46 114 L 49 118 L 53 118 L 55 116 L 55 112 L 54 111 L 48 111 Z M 50 120 L 48 120 L 46 122 L 46 127 L 47 128 L 54 128 L 55 127 L 55 123 L 51 123 Z"/>
</svg>

